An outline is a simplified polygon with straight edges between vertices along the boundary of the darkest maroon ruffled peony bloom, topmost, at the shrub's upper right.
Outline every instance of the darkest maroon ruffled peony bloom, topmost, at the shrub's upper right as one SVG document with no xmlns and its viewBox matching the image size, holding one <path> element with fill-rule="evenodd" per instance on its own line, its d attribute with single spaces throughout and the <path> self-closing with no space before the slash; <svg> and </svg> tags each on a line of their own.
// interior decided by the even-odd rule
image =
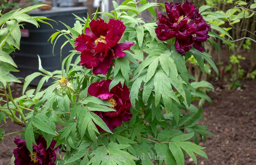
<svg viewBox="0 0 256 165">
<path fill-rule="evenodd" d="M 155 29 L 158 39 L 166 41 L 176 37 L 175 48 L 182 55 L 192 46 L 204 52 L 202 42 L 209 38 L 210 25 L 199 14 L 198 8 L 187 0 L 183 5 L 165 2 L 165 8 L 169 18 L 158 12 L 159 22 Z"/>
</svg>

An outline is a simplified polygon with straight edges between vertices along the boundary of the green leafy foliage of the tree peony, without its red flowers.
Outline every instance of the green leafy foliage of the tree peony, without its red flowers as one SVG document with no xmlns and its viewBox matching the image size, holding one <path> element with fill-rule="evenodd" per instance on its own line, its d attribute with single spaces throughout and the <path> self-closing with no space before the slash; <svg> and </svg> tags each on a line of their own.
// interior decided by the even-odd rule
<svg viewBox="0 0 256 165">
<path fill-rule="evenodd" d="M 205 66 L 211 66 L 218 75 L 211 55 L 193 48 L 183 57 L 176 51 L 172 42 L 159 41 L 155 34 L 156 21 L 145 23 L 140 18 L 140 14 L 146 10 L 156 18 L 153 7 L 158 6 L 158 3 L 126 0 L 119 6 L 115 1 L 113 4 L 115 7 L 113 11 L 96 12 L 93 19 L 96 19 L 97 14 L 105 14 L 109 18 L 122 20 L 126 30 L 120 42 L 134 42 L 135 45 L 131 50 L 125 51 L 125 57 L 113 61 L 114 69 L 111 66 L 106 75 L 94 75 L 91 69 L 82 67 L 79 64 L 80 52 L 76 50 L 71 50 L 62 60 L 61 70 L 54 72 L 43 69 L 39 57 L 40 72 L 27 76 L 23 96 L 9 103 L 14 108 L 17 105 L 17 111 L 25 114 L 24 117 L 27 119 L 24 121 L 27 122 L 25 138 L 28 149 L 31 152 L 32 143 L 35 143 L 37 135 L 41 134 L 46 139 L 48 147 L 52 139 L 55 139 L 56 146 L 60 146 L 59 152 L 64 153 L 62 159 L 55 162 L 56 164 L 147 165 L 155 161 L 158 164 L 165 162 L 167 165 L 180 165 L 184 164 L 185 153 L 197 164 L 194 153 L 207 158 L 203 151 L 204 147 L 198 146 L 199 138 L 205 141 L 206 135 L 213 135 L 207 131 L 206 126 L 197 125 L 202 118 L 203 108 L 193 105 L 193 100 L 203 99 L 211 103 L 210 97 L 203 90 L 213 90 L 213 86 L 207 81 L 196 82 L 187 71 L 186 60 L 193 55 L 194 62 L 200 66 L 202 72 L 206 72 Z M 11 32 L 19 28 L 20 21 L 27 19 L 38 26 L 37 19 L 42 17 L 20 16 L 34 8 L 16 10 L 0 18 L 0 25 L 1 22 L 8 25 L 6 30 L 1 30 L 1 34 L 5 36 L 1 38 L 5 45 L 3 48 L 8 47 L 13 50 L 19 48 L 19 33 Z M 200 7 L 200 11 L 208 21 L 230 17 L 223 13 L 205 11 L 208 9 L 209 6 Z M 74 16 L 76 22 L 73 27 L 62 23 L 67 29 L 58 30 L 49 38 L 55 46 L 60 36 L 66 37 L 67 41 L 62 44 L 60 51 L 69 44 L 74 48 L 74 39 L 85 33 L 85 28 L 89 27 L 89 15 L 87 18 Z M 109 18 L 102 19 L 108 21 Z M 225 29 L 214 23 L 211 25 L 212 29 L 231 38 Z M 214 32 L 211 36 L 222 39 L 224 37 Z M 8 37 L 11 41 L 6 39 Z M 7 53 L 3 52 L 5 57 Z M 0 58 L 4 60 L 1 62 L 6 63 L 4 68 L 8 67 L 8 71 L 16 70 L 15 63 L 8 57 L 9 55 Z M 37 89 L 26 91 L 30 82 L 38 76 L 43 78 Z M 43 83 L 49 78 L 55 81 L 51 86 L 40 91 Z M 57 81 L 60 78 L 61 80 Z M 124 122 L 113 132 L 94 113 L 94 111 L 114 111 L 112 105 L 88 94 L 90 84 L 108 78 L 112 79 L 109 90 L 119 82 L 127 85 L 130 89 L 132 105 L 131 120 Z M 0 79 L 4 86 L 7 82 L 15 80 Z M 57 124 L 62 126 L 61 130 L 56 130 Z M 99 131 L 98 127 L 105 132 Z M 191 139 L 194 142 L 191 142 Z"/>
</svg>

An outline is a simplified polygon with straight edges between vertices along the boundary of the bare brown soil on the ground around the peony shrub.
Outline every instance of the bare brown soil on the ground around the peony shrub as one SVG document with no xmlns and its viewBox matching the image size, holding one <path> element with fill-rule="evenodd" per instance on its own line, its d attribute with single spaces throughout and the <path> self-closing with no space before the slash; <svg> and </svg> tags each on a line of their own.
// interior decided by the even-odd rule
<svg viewBox="0 0 256 165">
<path fill-rule="evenodd" d="M 207 137 L 200 146 L 208 155 L 208 160 L 198 157 L 198 164 L 205 165 L 255 165 L 256 164 L 256 79 L 242 80 L 243 87 L 239 90 L 228 90 L 225 82 L 214 81 L 214 92 L 209 95 L 213 105 L 204 104 L 204 124 L 215 137 Z M 20 91 L 20 87 L 16 91 Z M 12 88 L 14 89 L 14 88 Z M 20 94 L 17 92 L 17 94 Z M 6 133 L 22 131 L 22 127 L 13 124 L 3 125 Z M 10 164 L 13 140 L 20 134 L 6 136 L 0 143 L 0 165 Z M 187 158 L 186 165 L 193 165 Z"/>
</svg>

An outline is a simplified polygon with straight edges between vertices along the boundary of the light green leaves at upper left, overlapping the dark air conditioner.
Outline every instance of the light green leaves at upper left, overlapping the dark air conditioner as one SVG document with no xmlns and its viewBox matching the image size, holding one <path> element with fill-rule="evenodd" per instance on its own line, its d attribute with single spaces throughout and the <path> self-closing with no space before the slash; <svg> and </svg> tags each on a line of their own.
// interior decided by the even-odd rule
<svg viewBox="0 0 256 165">
<path fill-rule="evenodd" d="M 25 14 L 31 10 L 37 9 L 44 5 L 34 5 L 27 7 L 25 9 L 17 9 L 9 13 L 5 13 L 0 17 L 0 82 L 6 86 L 7 82 L 21 82 L 19 79 L 14 77 L 10 71 L 17 72 L 14 67 L 17 65 L 14 63 L 10 57 L 10 53 L 19 49 L 20 44 L 20 26 L 23 22 L 29 22 L 38 27 L 37 21 L 42 21 L 43 19 L 48 19 L 46 17 L 30 17 Z M 3 25 L 6 24 L 6 27 Z M 14 66 L 14 67 L 13 67 Z"/>
</svg>

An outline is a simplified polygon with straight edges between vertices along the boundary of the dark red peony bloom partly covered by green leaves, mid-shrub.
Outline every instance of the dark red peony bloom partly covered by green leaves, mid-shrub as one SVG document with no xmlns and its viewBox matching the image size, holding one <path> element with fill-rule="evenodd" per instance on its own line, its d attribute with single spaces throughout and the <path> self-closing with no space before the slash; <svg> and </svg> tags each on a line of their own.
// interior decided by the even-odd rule
<svg viewBox="0 0 256 165">
<path fill-rule="evenodd" d="M 115 127 L 122 125 L 122 121 L 129 121 L 132 114 L 130 113 L 130 92 L 127 86 L 124 84 L 124 87 L 122 88 L 122 85 L 119 82 L 119 84 L 113 87 L 109 92 L 110 82 L 110 79 L 94 82 L 89 86 L 88 93 L 92 96 L 99 97 L 102 100 L 106 100 L 113 105 L 111 108 L 116 111 L 94 111 L 94 113 L 108 125 L 109 129 L 113 131 Z M 100 127 L 98 127 L 98 130 L 105 132 Z"/>
</svg>

